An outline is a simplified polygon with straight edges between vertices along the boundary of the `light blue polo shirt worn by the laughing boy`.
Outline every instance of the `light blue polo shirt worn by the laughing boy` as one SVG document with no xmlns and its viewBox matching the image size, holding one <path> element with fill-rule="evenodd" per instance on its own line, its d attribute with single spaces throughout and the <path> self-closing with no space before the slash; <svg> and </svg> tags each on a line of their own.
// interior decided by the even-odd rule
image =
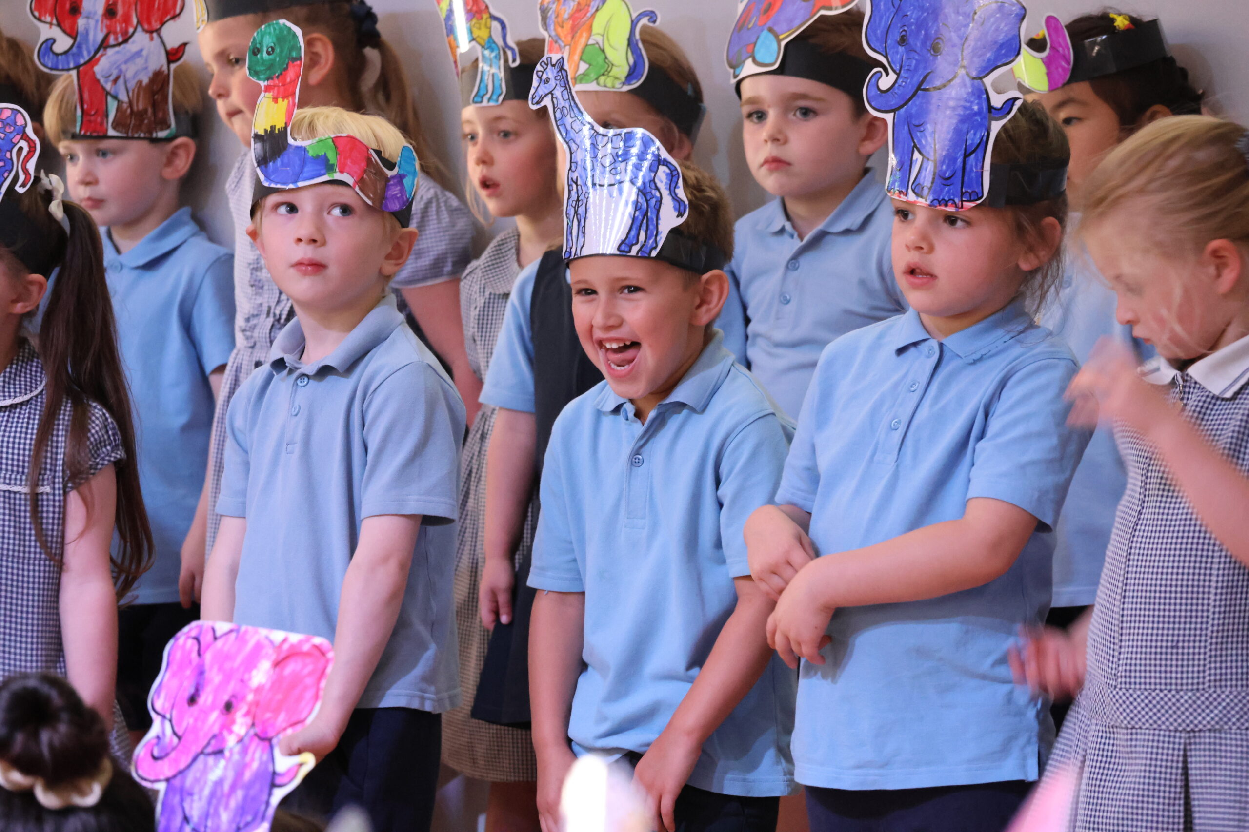
<svg viewBox="0 0 1249 832">
<path fill-rule="evenodd" d="M 742 525 L 772 498 L 791 435 L 718 334 L 644 424 L 607 382 L 556 419 L 530 586 L 586 594 L 578 753 L 646 752 L 663 731 L 737 605 L 733 579 L 751 574 Z M 796 684 L 773 655 L 689 785 L 789 793 Z"/>
</svg>

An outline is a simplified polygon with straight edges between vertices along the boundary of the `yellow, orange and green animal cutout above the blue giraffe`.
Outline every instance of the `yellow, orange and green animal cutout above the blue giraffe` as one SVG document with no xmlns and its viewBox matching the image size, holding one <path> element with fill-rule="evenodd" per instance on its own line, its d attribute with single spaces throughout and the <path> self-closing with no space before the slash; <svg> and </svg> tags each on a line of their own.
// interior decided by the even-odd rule
<svg viewBox="0 0 1249 832">
<path fill-rule="evenodd" d="M 578 86 L 628 90 L 646 77 L 638 29 L 659 22 L 654 10 L 643 9 L 634 16 L 627 0 L 541 0 L 538 19 L 547 52 L 563 54 Z M 578 75 L 582 64 L 586 70 Z"/>
</svg>

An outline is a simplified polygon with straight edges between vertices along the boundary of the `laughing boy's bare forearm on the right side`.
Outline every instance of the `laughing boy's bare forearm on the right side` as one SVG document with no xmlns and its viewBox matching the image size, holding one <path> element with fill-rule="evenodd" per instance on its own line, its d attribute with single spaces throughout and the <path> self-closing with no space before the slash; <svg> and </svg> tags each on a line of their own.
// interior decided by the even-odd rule
<svg viewBox="0 0 1249 832">
<path fill-rule="evenodd" d="M 749 581 L 749 578 L 737 581 Z M 701 746 L 728 718 L 751 691 L 772 659 L 764 625 L 774 605 L 762 591 L 738 599 L 737 607 L 719 631 L 694 684 L 668 721 L 666 731 L 677 731 Z"/>
</svg>

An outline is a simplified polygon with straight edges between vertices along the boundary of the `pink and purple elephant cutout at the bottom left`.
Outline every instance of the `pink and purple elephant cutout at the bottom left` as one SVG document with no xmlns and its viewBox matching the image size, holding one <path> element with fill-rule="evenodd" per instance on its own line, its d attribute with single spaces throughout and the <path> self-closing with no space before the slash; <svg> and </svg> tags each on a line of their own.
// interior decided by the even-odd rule
<svg viewBox="0 0 1249 832">
<path fill-rule="evenodd" d="M 159 832 L 266 832 L 312 770 L 280 737 L 316 715 L 333 649 L 317 636 L 194 621 L 165 647 L 135 778 L 160 791 Z"/>
</svg>

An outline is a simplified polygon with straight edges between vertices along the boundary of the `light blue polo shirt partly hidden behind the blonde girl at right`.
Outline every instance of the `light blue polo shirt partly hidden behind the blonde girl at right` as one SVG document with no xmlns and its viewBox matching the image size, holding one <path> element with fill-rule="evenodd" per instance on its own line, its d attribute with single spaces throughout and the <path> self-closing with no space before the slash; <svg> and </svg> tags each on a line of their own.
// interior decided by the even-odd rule
<svg viewBox="0 0 1249 832">
<path fill-rule="evenodd" d="M 1040 317 L 1043 326 L 1067 342 L 1084 363 L 1104 337 L 1129 344 L 1140 360 L 1153 356 L 1152 347 L 1132 337 L 1132 327 L 1114 319 L 1118 301 L 1097 267 L 1083 253 L 1073 253 L 1057 302 Z M 1114 443 L 1114 430 L 1098 428 L 1084 450 L 1063 514 L 1054 526 L 1053 606 L 1084 606 L 1097 600 L 1105 549 L 1110 545 L 1114 515 L 1128 472 Z"/>
</svg>

